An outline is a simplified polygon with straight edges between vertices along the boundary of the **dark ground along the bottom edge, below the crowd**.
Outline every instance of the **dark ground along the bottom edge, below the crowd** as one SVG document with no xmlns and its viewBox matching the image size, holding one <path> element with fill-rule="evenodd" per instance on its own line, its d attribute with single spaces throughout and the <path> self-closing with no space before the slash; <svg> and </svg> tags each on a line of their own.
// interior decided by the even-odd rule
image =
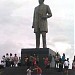
<svg viewBox="0 0 75 75">
<path fill-rule="evenodd" d="M 25 67 L 13 67 L 13 68 L 5 68 L 1 70 L 0 75 L 26 75 L 26 68 Z M 36 72 L 34 71 L 32 75 L 36 75 Z M 42 75 L 66 75 L 63 72 L 58 72 L 56 69 L 49 69 L 49 70 L 43 70 Z M 69 70 L 68 75 L 75 75 L 75 70 Z"/>
</svg>

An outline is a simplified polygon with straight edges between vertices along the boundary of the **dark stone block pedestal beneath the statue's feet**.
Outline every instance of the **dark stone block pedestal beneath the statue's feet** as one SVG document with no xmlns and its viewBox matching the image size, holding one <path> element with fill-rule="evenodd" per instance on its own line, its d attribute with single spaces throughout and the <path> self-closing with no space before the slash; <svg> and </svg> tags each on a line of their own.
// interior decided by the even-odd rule
<svg viewBox="0 0 75 75">
<path fill-rule="evenodd" d="M 34 56 L 37 55 L 39 57 L 39 64 L 44 65 L 44 60 L 46 56 L 49 56 L 49 54 L 54 55 L 55 52 L 52 51 L 49 48 L 27 48 L 27 49 L 21 49 L 21 63 L 22 65 L 25 65 L 25 56 Z"/>
</svg>

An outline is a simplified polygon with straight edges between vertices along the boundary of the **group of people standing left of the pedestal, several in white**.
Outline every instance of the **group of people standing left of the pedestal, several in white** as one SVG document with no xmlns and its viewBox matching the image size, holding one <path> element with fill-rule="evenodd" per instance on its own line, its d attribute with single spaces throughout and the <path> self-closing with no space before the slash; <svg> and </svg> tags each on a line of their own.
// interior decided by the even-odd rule
<svg viewBox="0 0 75 75">
<path fill-rule="evenodd" d="M 2 56 L 1 65 L 4 67 L 17 67 L 21 64 L 21 57 L 18 57 L 17 54 L 12 55 L 12 53 Z"/>
</svg>

